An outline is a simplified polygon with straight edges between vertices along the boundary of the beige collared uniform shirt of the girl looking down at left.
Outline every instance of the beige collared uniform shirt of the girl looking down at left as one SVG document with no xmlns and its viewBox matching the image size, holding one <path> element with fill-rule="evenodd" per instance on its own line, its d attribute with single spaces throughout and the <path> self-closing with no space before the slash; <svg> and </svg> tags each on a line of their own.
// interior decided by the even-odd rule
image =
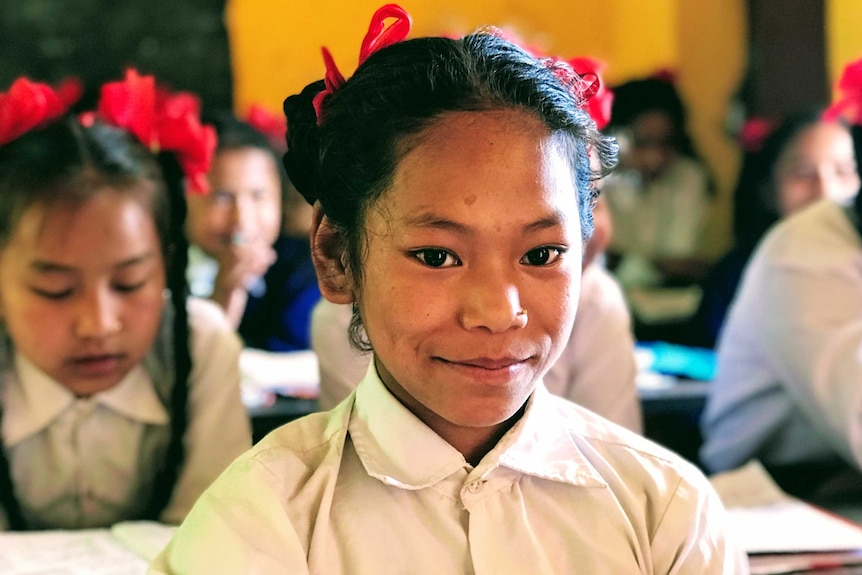
<svg viewBox="0 0 862 575">
<path fill-rule="evenodd" d="M 251 445 L 240 399 L 240 343 L 221 310 L 189 299 L 193 371 L 185 459 L 161 515 L 179 523 L 200 493 Z M 166 314 L 167 316 L 168 314 Z M 170 321 L 148 357 L 117 385 L 76 397 L 10 351 L 2 380 L 2 439 L 30 529 L 106 527 L 139 519 L 170 440 L 164 397 Z M 0 529 L 6 526 L 0 508 Z"/>
</svg>

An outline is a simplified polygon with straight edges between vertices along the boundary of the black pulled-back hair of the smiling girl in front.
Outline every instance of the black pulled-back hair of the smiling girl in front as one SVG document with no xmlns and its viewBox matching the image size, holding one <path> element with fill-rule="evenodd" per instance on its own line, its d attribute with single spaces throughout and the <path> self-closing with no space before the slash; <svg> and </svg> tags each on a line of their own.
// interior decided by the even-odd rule
<svg viewBox="0 0 862 575">
<path fill-rule="evenodd" d="M 284 102 L 284 164 L 297 190 L 319 201 L 361 281 L 363 223 L 388 188 L 405 144 L 448 112 L 522 110 L 566 142 L 583 239 L 592 233 L 592 180 L 616 165 L 616 141 L 600 134 L 581 98 L 547 65 L 493 30 L 461 39 L 418 38 L 373 53 L 323 101 L 318 125 L 312 83 Z M 588 149 L 599 161 L 590 167 Z M 370 349 L 354 313 L 351 342 Z"/>
</svg>

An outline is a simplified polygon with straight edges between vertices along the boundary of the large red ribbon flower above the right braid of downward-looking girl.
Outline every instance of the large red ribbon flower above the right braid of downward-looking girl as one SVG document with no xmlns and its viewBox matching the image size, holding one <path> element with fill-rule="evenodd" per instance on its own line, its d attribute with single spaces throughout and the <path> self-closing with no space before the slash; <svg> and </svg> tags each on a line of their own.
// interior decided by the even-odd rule
<svg viewBox="0 0 862 575">
<path fill-rule="evenodd" d="M 216 132 L 201 124 L 200 101 L 194 94 L 158 89 L 155 78 L 129 69 L 125 80 L 102 86 L 95 115 L 128 130 L 153 153 L 176 154 L 191 190 L 209 192 L 206 174 L 215 153 Z M 81 120 L 92 124 L 93 114 Z"/>
</svg>

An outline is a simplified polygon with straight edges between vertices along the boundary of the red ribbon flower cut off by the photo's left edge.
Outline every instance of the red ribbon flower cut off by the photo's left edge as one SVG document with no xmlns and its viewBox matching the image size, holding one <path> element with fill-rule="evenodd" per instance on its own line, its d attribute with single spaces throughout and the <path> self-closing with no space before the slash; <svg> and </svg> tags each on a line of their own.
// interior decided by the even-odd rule
<svg viewBox="0 0 862 575">
<path fill-rule="evenodd" d="M 51 86 L 18 78 L 0 93 L 0 145 L 8 144 L 66 113 L 68 105 Z"/>
</svg>

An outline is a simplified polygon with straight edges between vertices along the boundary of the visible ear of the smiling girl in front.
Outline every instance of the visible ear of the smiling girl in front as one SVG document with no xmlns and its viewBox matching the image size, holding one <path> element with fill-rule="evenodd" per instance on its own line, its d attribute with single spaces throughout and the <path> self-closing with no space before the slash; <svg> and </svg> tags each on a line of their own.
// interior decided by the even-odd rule
<svg viewBox="0 0 862 575">
<path fill-rule="evenodd" d="M 320 293 L 332 303 L 353 302 L 353 281 L 347 269 L 344 240 L 320 207 L 314 204 L 311 222 L 311 259 Z"/>
</svg>

